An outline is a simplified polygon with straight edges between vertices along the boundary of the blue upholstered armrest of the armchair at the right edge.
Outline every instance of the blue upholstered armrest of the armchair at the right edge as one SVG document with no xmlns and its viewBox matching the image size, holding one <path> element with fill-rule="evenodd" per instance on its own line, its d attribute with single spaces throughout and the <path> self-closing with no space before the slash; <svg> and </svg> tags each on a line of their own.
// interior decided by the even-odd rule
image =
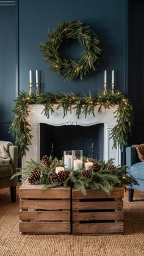
<svg viewBox="0 0 144 256">
<path fill-rule="evenodd" d="M 133 164 L 139 163 L 140 159 L 137 156 L 137 150 L 135 147 L 127 147 L 126 148 L 126 166 L 127 172 L 130 173 L 131 166 Z"/>
</svg>

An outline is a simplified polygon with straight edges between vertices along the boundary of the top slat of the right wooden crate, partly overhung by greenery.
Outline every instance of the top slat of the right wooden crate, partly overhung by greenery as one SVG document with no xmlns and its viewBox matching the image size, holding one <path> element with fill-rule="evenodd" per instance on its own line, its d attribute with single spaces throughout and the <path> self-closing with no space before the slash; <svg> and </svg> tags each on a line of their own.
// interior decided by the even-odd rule
<svg viewBox="0 0 144 256">
<path fill-rule="evenodd" d="M 123 196 L 124 196 L 124 189 L 122 189 L 121 187 L 113 188 L 113 191 L 110 194 L 110 196 L 108 196 L 106 192 L 101 190 L 87 189 L 87 199 L 99 199 L 99 198 L 103 199 L 103 198 L 113 198 L 113 197 L 123 198 Z M 78 189 L 73 189 L 72 198 L 85 199 L 85 196 Z"/>
</svg>

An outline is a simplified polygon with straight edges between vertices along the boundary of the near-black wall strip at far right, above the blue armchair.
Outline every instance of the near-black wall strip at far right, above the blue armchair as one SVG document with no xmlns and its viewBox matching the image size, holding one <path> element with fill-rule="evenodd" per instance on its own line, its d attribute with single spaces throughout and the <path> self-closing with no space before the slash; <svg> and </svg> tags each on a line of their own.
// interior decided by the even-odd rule
<svg viewBox="0 0 144 256">
<path fill-rule="evenodd" d="M 134 105 L 134 128 L 129 144 L 144 143 L 144 1 L 129 1 L 128 95 Z"/>
</svg>

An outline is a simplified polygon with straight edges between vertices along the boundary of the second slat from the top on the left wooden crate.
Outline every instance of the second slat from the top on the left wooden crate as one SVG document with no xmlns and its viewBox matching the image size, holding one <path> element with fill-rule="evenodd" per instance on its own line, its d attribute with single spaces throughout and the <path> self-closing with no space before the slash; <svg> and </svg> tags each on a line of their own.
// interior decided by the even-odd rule
<svg viewBox="0 0 144 256">
<path fill-rule="evenodd" d="M 70 200 L 27 200 L 20 199 L 21 209 L 43 209 L 43 210 L 59 210 L 70 209 Z"/>
</svg>

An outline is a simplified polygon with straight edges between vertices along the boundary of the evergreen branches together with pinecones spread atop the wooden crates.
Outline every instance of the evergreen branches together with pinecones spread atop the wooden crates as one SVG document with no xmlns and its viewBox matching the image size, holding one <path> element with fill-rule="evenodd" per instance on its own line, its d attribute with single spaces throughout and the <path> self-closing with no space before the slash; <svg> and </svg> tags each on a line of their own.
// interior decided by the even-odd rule
<svg viewBox="0 0 144 256">
<path fill-rule="evenodd" d="M 47 156 L 48 161 L 49 157 Z M 27 177 L 30 183 L 42 183 L 43 189 L 54 188 L 56 186 L 73 185 L 83 194 L 86 194 L 87 189 L 101 189 L 107 194 L 110 194 L 114 186 L 125 186 L 129 184 L 137 184 L 137 181 L 126 174 L 126 166 L 116 167 L 113 165 L 112 159 L 107 161 L 95 161 L 91 158 L 84 158 L 85 161 L 92 161 L 93 167 L 90 170 L 85 170 L 84 167 L 79 170 L 63 170 L 56 174 L 56 167 L 63 166 L 63 159 L 54 158 L 49 166 L 42 160 L 29 162 L 21 172 L 24 172 L 24 177 Z M 49 163 L 50 163 L 49 162 Z M 63 166 L 64 167 L 64 166 Z M 40 174 L 37 175 L 38 170 Z M 20 175 L 17 172 L 13 178 Z"/>
</svg>

